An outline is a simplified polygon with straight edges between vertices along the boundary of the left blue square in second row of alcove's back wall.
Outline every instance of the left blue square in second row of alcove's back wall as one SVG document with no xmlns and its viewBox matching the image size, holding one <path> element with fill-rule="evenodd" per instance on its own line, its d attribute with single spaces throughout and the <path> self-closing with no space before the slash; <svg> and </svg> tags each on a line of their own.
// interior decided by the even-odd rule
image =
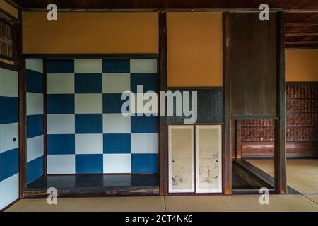
<svg viewBox="0 0 318 226">
<path fill-rule="evenodd" d="M 102 74 L 76 73 L 75 93 L 102 93 Z"/>
</svg>

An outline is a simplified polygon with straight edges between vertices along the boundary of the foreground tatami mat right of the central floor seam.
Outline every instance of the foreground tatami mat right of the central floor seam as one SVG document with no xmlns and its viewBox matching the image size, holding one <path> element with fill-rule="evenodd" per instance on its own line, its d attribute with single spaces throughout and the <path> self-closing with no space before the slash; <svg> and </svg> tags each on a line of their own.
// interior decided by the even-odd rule
<svg viewBox="0 0 318 226">
<path fill-rule="evenodd" d="M 302 195 L 271 195 L 269 205 L 259 196 L 172 196 L 166 197 L 167 211 L 318 211 L 318 206 Z"/>
</svg>

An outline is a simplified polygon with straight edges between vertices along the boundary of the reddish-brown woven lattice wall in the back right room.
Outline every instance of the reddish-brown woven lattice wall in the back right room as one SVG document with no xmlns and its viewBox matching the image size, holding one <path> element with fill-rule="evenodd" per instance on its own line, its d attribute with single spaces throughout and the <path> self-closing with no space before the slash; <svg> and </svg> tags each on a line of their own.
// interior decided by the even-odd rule
<svg viewBox="0 0 318 226">
<path fill-rule="evenodd" d="M 318 84 L 287 85 L 287 141 L 318 141 Z M 272 120 L 242 121 L 242 141 L 273 141 Z"/>
</svg>

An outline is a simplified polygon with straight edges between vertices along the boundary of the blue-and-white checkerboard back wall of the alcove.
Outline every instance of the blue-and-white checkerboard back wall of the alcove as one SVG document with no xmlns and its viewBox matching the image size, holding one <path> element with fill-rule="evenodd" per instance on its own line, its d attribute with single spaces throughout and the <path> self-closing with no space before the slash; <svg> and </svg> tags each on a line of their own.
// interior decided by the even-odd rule
<svg viewBox="0 0 318 226">
<path fill-rule="evenodd" d="M 157 117 L 121 114 L 121 94 L 157 91 L 156 59 L 47 61 L 47 174 L 158 172 Z"/>
</svg>

